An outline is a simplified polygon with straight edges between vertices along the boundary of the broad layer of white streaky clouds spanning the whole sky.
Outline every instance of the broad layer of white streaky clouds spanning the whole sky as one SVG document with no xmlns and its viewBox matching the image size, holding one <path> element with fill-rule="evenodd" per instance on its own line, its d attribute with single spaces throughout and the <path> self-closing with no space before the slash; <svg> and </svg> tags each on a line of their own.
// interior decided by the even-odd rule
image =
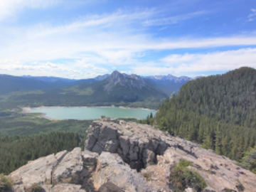
<svg viewBox="0 0 256 192">
<path fill-rule="evenodd" d="M 47 10 L 63 4 L 64 0 L 0 2 L 0 73 L 92 78 L 113 68 L 139 75 L 183 75 L 256 67 L 255 33 L 170 36 L 159 32 L 209 16 L 213 12 L 209 10 L 169 14 L 157 7 L 128 7 L 57 23 L 6 23 L 28 8 Z M 253 21 L 256 10 L 251 11 L 248 18 Z"/>
</svg>

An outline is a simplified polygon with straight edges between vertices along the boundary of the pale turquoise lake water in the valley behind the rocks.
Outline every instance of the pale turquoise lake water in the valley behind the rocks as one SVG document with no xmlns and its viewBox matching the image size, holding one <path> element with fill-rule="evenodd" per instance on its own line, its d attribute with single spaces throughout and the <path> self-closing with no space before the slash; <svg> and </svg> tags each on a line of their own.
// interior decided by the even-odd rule
<svg viewBox="0 0 256 192">
<path fill-rule="evenodd" d="M 100 119 L 100 116 L 111 118 L 133 117 L 146 119 L 155 110 L 126 109 L 122 107 L 39 107 L 31 108 L 28 112 L 44 113 L 52 119 Z"/>
</svg>

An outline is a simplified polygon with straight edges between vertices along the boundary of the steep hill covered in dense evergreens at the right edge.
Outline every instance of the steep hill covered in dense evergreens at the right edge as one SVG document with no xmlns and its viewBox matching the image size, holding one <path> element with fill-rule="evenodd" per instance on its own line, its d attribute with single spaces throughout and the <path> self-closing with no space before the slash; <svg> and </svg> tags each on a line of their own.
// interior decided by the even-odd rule
<svg viewBox="0 0 256 192">
<path fill-rule="evenodd" d="M 256 70 L 240 68 L 187 82 L 160 105 L 155 121 L 160 129 L 230 159 L 256 154 Z M 255 169 L 255 158 L 247 161 Z"/>
</svg>

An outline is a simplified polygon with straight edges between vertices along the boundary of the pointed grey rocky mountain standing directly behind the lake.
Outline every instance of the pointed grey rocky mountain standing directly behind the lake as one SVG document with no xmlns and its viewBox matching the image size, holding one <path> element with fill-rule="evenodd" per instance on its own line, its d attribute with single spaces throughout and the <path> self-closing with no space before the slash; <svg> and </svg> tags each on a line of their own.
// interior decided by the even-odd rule
<svg viewBox="0 0 256 192">
<path fill-rule="evenodd" d="M 135 102 L 148 97 L 167 97 L 150 80 L 144 80 L 137 75 L 124 75 L 114 71 L 101 82 L 90 85 L 80 85 L 80 90 L 90 88 L 93 93 L 87 100 L 91 102 Z"/>
</svg>

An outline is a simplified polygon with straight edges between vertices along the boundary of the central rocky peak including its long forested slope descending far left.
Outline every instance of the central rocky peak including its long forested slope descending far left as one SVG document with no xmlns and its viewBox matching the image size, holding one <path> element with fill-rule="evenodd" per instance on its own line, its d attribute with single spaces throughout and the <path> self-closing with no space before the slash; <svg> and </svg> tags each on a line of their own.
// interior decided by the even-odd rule
<svg viewBox="0 0 256 192">
<path fill-rule="evenodd" d="M 168 97 L 151 80 L 144 80 L 137 75 L 124 75 L 114 71 L 102 81 L 80 83 L 79 85 L 45 90 L 41 93 L 12 95 L 10 102 L 28 106 L 84 106 L 90 104 L 139 102 L 154 97 Z M 17 103 L 18 102 L 18 103 Z"/>
</svg>

